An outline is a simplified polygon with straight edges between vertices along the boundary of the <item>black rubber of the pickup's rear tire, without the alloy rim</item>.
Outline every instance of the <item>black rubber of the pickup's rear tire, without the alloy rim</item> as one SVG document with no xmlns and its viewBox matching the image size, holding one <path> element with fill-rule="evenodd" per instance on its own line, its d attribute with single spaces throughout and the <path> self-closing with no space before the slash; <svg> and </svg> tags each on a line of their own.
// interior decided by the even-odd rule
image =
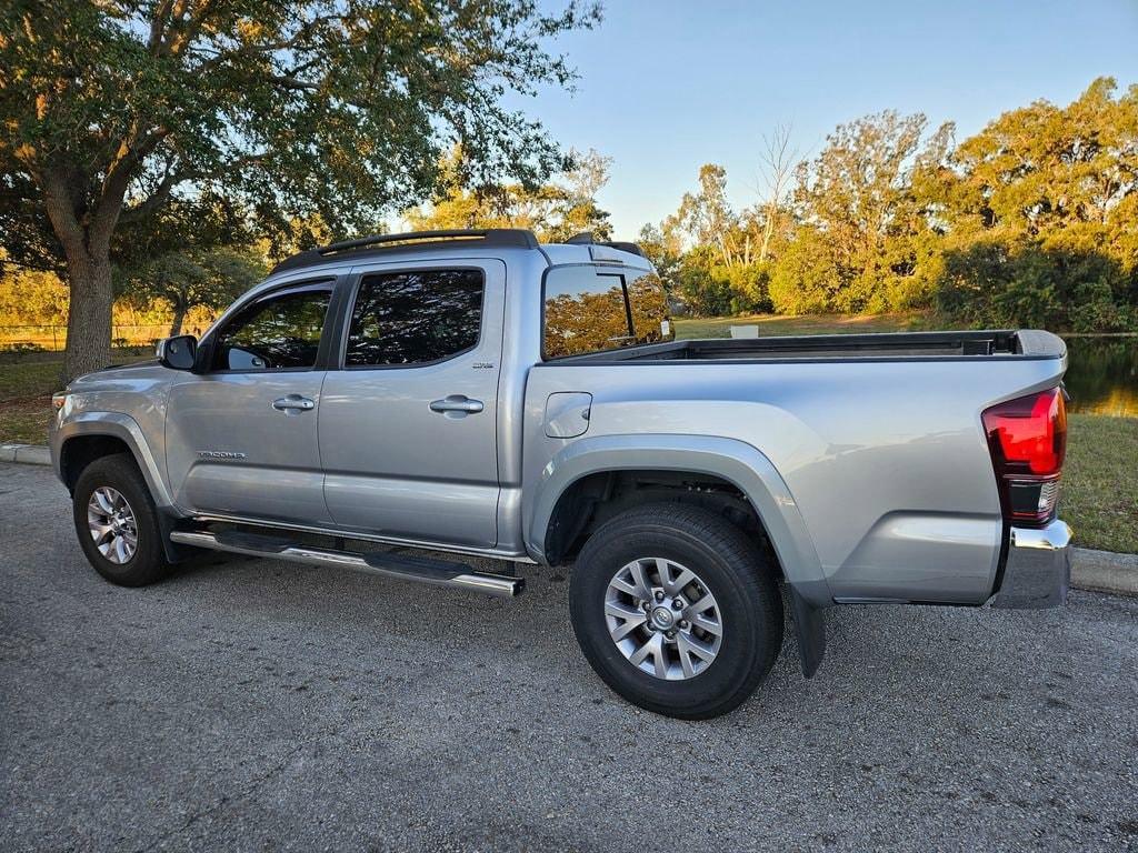
<svg viewBox="0 0 1138 853">
<path fill-rule="evenodd" d="M 605 620 L 610 581 L 633 561 L 652 557 L 694 571 L 719 607 L 718 654 L 703 671 L 682 680 L 638 669 L 617 647 Z M 684 720 L 736 709 L 766 678 L 782 648 L 782 596 L 762 552 L 723 517 L 684 504 L 638 506 L 601 525 L 577 558 L 569 610 L 585 657 L 609 687 L 643 709 Z M 648 623 L 636 630 L 648 631 Z"/>
</svg>

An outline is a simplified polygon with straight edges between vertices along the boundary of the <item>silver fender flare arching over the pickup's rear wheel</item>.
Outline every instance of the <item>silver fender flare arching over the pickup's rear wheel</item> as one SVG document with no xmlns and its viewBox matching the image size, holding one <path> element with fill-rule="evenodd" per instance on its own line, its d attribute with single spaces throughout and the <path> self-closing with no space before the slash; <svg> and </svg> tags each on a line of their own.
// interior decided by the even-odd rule
<svg viewBox="0 0 1138 853">
<path fill-rule="evenodd" d="M 545 538 L 561 496 L 575 482 L 607 471 L 655 470 L 708 474 L 747 496 L 766 529 L 787 583 L 808 604 L 832 604 L 814 540 L 774 464 L 745 441 L 716 436 L 634 433 L 583 438 L 542 470 L 523 514 L 526 548 L 545 562 Z"/>
</svg>

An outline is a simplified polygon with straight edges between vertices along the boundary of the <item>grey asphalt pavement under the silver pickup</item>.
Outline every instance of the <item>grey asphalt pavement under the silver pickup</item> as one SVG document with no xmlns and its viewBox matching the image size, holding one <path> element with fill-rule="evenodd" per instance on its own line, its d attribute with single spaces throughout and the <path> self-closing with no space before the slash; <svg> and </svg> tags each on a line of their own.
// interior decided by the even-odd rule
<svg viewBox="0 0 1138 853">
<path fill-rule="evenodd" d="M 266 561 L 105 583 L 0 465 L 5 850 L 1138 847 L 1138 601 L 832 611 L 736 713 L 595 678 L 566 577 L 498 601 Z"/>
</svg>

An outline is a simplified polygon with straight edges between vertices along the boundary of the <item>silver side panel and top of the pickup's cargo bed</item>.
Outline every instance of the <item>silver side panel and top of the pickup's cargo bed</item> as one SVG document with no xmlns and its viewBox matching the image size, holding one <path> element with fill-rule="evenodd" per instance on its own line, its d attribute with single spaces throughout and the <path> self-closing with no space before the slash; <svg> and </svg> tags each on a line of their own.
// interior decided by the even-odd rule
<svg viewBox="0 0 1138 853">
<path fill-rule="evenodd" d="M 1004 535 L 982 413 L 1054 388 L 1065 361 L 1059 338 L 1033 330 L 683 340 L 550 359 L 528 373 L 523 480 L 577 471 L 586 449 L 610 466 L 675 469 L 684 448 L 723 456 L 726 442 L 754 455 L 721 479 L 767 471 L 777 506 L 800 514 L 823 598 L 980 604 Z M 571 405 L 588 416 L 559 408 Z"/>
</svg>

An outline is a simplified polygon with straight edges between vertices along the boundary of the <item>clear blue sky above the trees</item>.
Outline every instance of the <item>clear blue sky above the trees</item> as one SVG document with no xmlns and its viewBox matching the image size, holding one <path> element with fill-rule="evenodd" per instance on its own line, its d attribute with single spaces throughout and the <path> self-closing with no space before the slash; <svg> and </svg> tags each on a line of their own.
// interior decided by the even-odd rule
<svg viewBox="0 0 1138 853">
<path fill-rule="evenodd" d="M 955 121 L 963 139 L 1099 75 L 1136 83 L 1138 1 L 608 0 L 599 30 L 554 47 L 580 72 L 577 92 L 510 102 L 613 158 L 600 201 L 632 239 L 675 210 L 703 163 L 726 166 L 733 202 L 751 204 L 777 124 L 817 150 L 838 123 L 891 108 Z"/>
</svg>

